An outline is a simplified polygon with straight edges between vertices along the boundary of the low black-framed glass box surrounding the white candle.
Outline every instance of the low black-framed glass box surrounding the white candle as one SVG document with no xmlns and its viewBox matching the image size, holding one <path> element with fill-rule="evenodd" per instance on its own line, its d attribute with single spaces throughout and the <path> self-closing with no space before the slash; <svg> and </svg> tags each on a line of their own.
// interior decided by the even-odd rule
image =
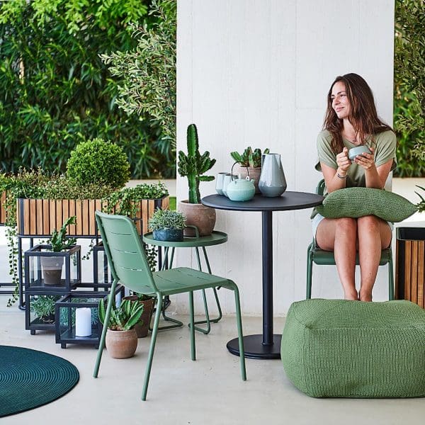
<svg viewBox="0 0 425 425">
<path fill-rule="evenodd" d="M 123 286 L 117 285 L 115 295 L 121 293 Z M 67 348 L 67 344 L 88 344 L 98 348 L 103 325 L 98 319 L 98 302 L 108 297 L 104 291 L 73 292 L 64 295 L 55 304 L 55 336 L 56 344 Z M 78 308 L 91 310 L 91 335 L 76 336 L 76 310 Z"/>
</svg>

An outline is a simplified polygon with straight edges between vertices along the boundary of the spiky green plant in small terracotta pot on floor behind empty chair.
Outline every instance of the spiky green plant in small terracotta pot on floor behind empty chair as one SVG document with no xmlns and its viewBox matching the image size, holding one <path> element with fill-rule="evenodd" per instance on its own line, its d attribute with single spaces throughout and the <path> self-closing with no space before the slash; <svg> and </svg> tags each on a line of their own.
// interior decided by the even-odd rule
<svg viewBox="0 0 425 425">
<path fill-rule="evenodd" d="M 143 305 L 139 302 L 123 300 L 119 307 L 113 302 L 106 331 L 106 349 L 112 358 L 129 358 L 135 355 L 137 348 L 135 324 L 140 322 L 142 312 Z M 99 301 L 98 313 L 99 320 L 106 326 L 106 300 Z"/>
</svg>

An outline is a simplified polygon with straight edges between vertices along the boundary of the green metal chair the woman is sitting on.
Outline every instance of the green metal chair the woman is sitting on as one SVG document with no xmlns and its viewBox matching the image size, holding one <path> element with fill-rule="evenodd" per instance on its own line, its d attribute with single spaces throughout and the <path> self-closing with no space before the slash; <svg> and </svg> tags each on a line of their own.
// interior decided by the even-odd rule
<svg viewBox="0 0 425 425">
<path fill-rule="evenodd" d="M 316 193 L 317 195 L 323 195 L 325 188 L 324 180 L 319 181 L 317 184 Z M 306 298 L 312 297 L 312 271 L 313 263 L 318 266 L 335 266 L 335 257 L 333 251 L 324 251 L 316 247 L 316 243 L 313 242 L 307 248 L 307 294 Z M 358 265 L 358 254 L 356 255 L 356 265 Z M 382 249 L 380 266 L 388 264 L 388 296 L 390 300 L 394 300 L 394 276 L 392 268 L 392 250 L 391 246 L 387 249 Z"/>
</svg>

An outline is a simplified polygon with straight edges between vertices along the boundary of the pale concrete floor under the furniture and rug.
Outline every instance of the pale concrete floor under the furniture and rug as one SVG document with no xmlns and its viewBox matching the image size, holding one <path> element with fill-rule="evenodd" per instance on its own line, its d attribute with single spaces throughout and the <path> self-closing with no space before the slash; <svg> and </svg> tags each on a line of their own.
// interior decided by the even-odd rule
<svg viewBox="0 0 425 425">
<path fill-rule="evenodd" d="M 96 349 L 55 344 L 52 333 L 26 331 L 24 314 L 0 296 L 1 344 L 23 346 L 67 358 L 80 380 L 55 402 L 1 419 L 8 424 L 424 424 L 425 399 L 314 399 L 293 387 L 280 360 L 239 358 L 225 344 L 236 335 L 234 317 L 196 333 L 197 361 L 190 359 L 188 328 L 162 331 L 157 338 L 147 401 L 140 399 L 149 336 L 139 339 L 134 358 L 114 360 L 105 351 L 98 379 L 92 378 Z M 187 322 L 187 317 L 182 317 Z M 280 333 L 284 319 L 275 319 Z M 261 318 L 244 317 L 244 334 L 259 333 Z"/>
</svg>

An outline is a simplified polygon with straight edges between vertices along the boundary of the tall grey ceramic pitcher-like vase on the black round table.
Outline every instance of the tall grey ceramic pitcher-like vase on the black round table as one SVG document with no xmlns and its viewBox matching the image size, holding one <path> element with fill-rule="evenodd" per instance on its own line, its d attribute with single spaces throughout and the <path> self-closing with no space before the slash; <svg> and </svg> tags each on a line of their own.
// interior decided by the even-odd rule
<svg viewBox="0 0 425 425">
<path fill-rule="evenodd" d="M 259 189 L 263 196 L 280 196 L 286 191 L 285 174 L 283 173 L 280 154 L 261 155 L 261 176 Z"/>
</svg>

